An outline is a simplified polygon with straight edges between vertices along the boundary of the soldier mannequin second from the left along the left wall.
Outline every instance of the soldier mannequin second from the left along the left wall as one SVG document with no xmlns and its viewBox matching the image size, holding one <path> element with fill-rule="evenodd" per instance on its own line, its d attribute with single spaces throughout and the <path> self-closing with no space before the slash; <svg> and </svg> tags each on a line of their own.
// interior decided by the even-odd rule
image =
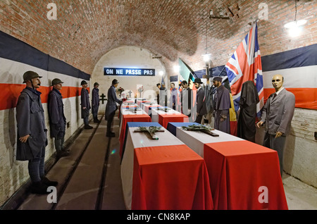
<svg viewBox="0 0 317 224">
<path fill-rule="evenodd" d="M 53 89 L 49 92 L 49 125 L 51 127 L 51 137 L 54 137 L 54 144 L 57 158 L 68 156 L 69 152 L 63 148 L 64 137 L 66 132 L 66 117 L 64 115 L 63 97 L 60 90 L 62 81 L 54 79 L 51 81 Z"/>
</svg>

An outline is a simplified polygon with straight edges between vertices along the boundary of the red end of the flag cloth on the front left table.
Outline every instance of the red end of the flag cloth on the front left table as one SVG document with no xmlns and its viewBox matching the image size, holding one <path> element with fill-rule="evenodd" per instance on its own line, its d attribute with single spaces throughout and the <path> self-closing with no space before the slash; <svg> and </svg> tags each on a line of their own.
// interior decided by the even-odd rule
<svg viewBox="0 0 317 224">
<path fill-rule="evenodd" d="M 135 149 L 131 209 L 213 209 L 204 159 L 185 144 Z"/>
</svg>

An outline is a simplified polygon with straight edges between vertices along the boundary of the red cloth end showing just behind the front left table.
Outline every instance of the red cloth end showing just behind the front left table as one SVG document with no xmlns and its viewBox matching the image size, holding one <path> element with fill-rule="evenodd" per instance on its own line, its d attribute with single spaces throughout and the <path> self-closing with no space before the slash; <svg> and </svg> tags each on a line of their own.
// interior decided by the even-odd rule
<svg viewBox="0 0 317 224">
<path fill-rule="evenodd" d="M 123 142 L 125 139 L 125 127 L 127 126 L 128 122 L 151 122 L 151 117 L 147 114 L 125 114 L 122 117 L 122 125 L 120 130 L 120 156 L 122 157 L 123 151 Z"/>
</svg>

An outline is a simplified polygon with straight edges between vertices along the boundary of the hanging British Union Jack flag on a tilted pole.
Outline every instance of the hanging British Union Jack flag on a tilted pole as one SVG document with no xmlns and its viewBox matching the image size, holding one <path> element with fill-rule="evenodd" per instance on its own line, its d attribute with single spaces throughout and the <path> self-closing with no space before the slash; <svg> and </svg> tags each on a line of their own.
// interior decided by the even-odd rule
<svg viewBox="0 0 317 224">
<path fill-rule="evenodd" d="M 225 64 L 228 80 L 230 82 L 231 94 L 235 104 L 235 111 L 239 110 L 239 101 L 242 84 L 251 80 L 256 85 L 259 94 L 259 104 L 256 105 L 257 116 L 261 116 L 263 107 L 263 75 L 261 54 L 258 42 L 258 26 L 256 23 L 251 27 L 249 33 L 232 54 L 228 63 Z"/>
</svg>

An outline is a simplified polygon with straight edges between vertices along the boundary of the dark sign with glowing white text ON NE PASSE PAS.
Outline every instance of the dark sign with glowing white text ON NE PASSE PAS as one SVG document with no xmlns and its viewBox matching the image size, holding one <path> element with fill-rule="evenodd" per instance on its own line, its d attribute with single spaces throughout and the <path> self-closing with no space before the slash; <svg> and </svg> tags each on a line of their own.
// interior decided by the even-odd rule
<svg viewBox="0 0 317 224">
<path fill-rule="evenodd" d="M 104 75 L 154 76 L 152 68 L 104 68 Z"/>
</svg>

